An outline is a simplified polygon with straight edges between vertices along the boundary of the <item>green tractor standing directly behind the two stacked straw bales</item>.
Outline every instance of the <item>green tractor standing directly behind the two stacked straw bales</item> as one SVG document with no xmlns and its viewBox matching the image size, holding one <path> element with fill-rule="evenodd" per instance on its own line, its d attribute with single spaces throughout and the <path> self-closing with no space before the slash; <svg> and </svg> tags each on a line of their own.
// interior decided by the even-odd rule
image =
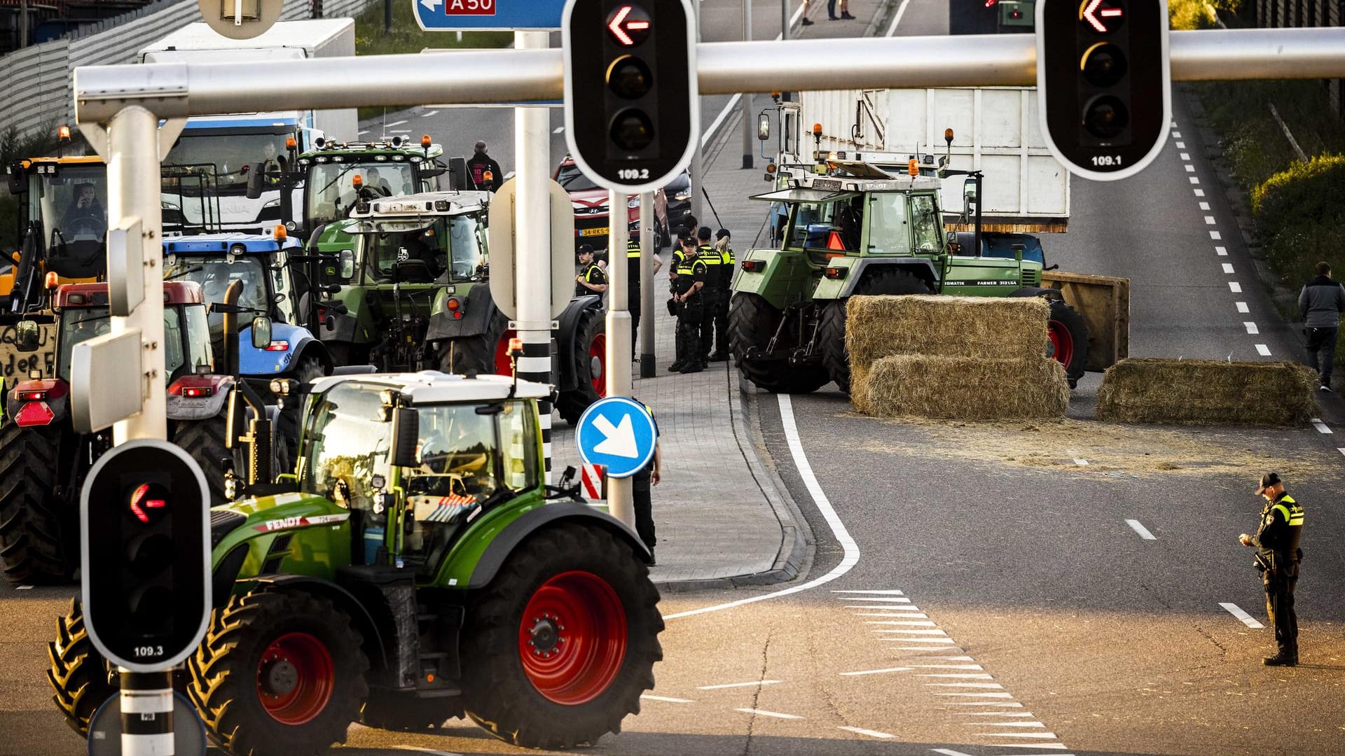
<svg viewBox="0 0 1345 756">
<path fill-rule="evenodd" d="M 979 230 L 946 233 L 940 179 L 933 175 L 898 176 L 835 156 L 818 168 L 822 174 L 781 176 L 784 188 L 753 198 L 777 203 L 772 218 L 781 242 L 779 249 L 748 250 L 733 278 L 729 340 L 748 381 L 780 393 L 814 391 L 835 381 L 849 391 L 846 300 L 944 293 L 1046 297 L 1048 356 L 1064 363 L 1071 386 L 1077 382 L 1088 330 L 1059 291 L 1041 287 L 1034 237 L 1002 234 L 990 245 Z M 976 204 L 979 184 L 981 176 L 970 174 L 968 207 Z M 979 229 L 979 213 L 975 222 Z"/>
</svg>

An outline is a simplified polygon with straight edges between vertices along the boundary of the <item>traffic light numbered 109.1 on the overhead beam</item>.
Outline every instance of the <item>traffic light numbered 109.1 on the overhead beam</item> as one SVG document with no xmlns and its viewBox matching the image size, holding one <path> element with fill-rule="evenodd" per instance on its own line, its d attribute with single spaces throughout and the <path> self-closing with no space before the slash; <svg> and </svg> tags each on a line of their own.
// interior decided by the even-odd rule
<svg viewBox="0 0 1345 756">
<path fill-rule="evenodd" d="M 1041 130 L 1072 174 L 1145 168 L 1171 121 L 1166 0 L 1037 0 Z"/>
</svg>

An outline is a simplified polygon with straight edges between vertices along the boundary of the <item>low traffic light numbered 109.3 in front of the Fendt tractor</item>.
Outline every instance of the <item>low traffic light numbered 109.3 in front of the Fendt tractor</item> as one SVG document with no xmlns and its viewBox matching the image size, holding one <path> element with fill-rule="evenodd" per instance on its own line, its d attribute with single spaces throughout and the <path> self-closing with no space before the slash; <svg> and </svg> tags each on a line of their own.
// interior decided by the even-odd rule
<svg viewBox="0 0 1345 756">
<path fill-rule="evenodd" d="M 196 463 L 165 441 L 128 441 L 89 472 L 79 500 L 83 615 L 113 663 L 164 670 L 204 635 L 207 496 Z"/>
</svg>

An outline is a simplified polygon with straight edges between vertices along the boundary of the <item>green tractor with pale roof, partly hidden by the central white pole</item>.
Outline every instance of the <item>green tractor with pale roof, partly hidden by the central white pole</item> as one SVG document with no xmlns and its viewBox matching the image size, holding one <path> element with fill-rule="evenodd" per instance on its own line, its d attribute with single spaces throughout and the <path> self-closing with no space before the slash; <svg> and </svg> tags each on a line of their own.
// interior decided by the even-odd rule
<svg viewBox="0 0 1345 756">
<path fill-rule="evenodd" d="M 342 261 L 340 312 L 321 312 L 339 363 L 510 373 L 516 334 L 491 296 L 484 191 L 440 191 L 356 203 L 330 223 L 316 253 Z M 557 409 L 566 422 L 607 390 L 603 299 L 576 297 L 557 319 Z"/>
</svg>

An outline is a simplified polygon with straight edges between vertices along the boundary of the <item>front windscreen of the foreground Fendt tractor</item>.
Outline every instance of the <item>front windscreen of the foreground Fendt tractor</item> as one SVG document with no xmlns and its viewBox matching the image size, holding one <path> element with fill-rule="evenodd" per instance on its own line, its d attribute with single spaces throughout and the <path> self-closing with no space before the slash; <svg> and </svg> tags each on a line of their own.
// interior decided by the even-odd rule
<svg viewBox="0 0 1345 756">
<path fill-rule="evenodd" d="M 299 471 L 299 490 L 350 507 L 371 510 L 370 480 L 389 476 L 393 425 L 382 422 L 382 386 L 340 383 L 312 410 Z"/>
</svg>

